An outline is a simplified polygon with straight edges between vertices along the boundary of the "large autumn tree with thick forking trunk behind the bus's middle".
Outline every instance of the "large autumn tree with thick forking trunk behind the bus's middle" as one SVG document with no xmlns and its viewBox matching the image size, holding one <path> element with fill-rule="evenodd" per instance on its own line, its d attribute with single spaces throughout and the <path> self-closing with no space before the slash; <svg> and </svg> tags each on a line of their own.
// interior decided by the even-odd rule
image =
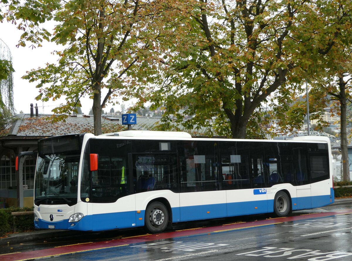
<svg viewBox="0 0 352 261">
<path fill-rule="evenodd" d="M 346 8 L 339 20 L 333 14 L 340 4 Z M 163 56 L 160 73 L 151 81 L 157 87 L 135 86 L 131 96 L 140 99 L 140 106 L 144 100 L 152 107 L 164 104 L 165 123 L 204 126 L 210 134 L 238 138 L 268 132 L 264 126 L 270 117 L 263 118 L 258 108 L 265 103 L 271 114 L 286 110 L 305 78 L 325 74 L 321 60 L 333 56 L 338 26 L 351 24 L 347 0 L 178 1 L 177 5 L 182 12 L 175 12 L 172 24 L 166 25 L 174 37 L 162 39 L 170 55 Z M 180 109 L 193 117 L 185 119 Z M 297 110 L 302 119 L 303 110 Z M 281 115 L 289 124 L 296 113 L 288 119 Z M 214 116 L 219 120 L 209 123 Z"/>
</svg>

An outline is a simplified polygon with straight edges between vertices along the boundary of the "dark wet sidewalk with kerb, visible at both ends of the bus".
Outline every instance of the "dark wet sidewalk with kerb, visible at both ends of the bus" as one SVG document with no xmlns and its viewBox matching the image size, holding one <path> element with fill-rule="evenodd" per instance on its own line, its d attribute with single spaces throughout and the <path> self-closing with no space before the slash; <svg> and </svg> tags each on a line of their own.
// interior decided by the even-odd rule
<svg viewBox="0 0 352 261">
<path fill-rule="evenodd" d="M 335 198 L 332 205 L 352 203 L 352 198 Z M 84 234 L 84 231 L 74 230 L 58 230 L 58 229 L 38 229 L 30 232 L 8 234 L 7 237 L 0 239 L 0 246 L 6 244 L 20 243 L 31 240 L 49 239 L 53 237 L 77 235 L 77 233 Z"/>
</svg>

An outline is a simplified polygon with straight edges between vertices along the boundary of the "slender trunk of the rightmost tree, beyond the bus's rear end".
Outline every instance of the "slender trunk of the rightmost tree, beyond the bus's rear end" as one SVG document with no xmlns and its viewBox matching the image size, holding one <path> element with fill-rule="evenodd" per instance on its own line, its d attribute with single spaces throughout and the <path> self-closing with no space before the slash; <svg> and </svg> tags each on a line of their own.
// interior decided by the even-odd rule
<svg viewBox="0 0 352 261">
<path fill-rule="evenodd" d="M 342 154 L 342 179 L 344 181 L 350 181 L 350 166 L 348 163 L 348 150 L 347 150 L 347 103 L 346 103 L 346 92 L 345 83 L 343 78 L 340 77 L 340 128 L 341 128 L 341 154 Z"/>
</svg>

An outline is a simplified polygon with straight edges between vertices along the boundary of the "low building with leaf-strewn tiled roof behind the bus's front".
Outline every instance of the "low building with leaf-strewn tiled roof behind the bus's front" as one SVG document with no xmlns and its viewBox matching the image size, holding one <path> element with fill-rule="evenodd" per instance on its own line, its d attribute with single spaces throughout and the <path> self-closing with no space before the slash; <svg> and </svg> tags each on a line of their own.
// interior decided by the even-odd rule
<svg viewBox="0 0 352 261">
<path fill-rule="evenodd" d="M 0 129 L 0 202 L 5 202 L 6 207 L 33 206 L 36 159 L 32 156 L 23 157 L 17 176 L 15 158 L 19 152 L 38 150 L 37 142 L 41 138 L 94 132 L 93 116 L 73 115 L 65 122 L 56 123 L 47 119 L 50 116 L 39 115 L 38 111 L 32 114 L 20 113 L 7 119 Z M 121 124 L 121 116 L 102 116 L 101 120 L 102 133 L 127 130 L 127 125 Z M 155 130 L 159 120 L 156 117 L 137 117 L 137 124 L 132 125 L 132 130 Z M 197 130 L 191 134 L 199 136 L 202 131 Z"/>
</svg>

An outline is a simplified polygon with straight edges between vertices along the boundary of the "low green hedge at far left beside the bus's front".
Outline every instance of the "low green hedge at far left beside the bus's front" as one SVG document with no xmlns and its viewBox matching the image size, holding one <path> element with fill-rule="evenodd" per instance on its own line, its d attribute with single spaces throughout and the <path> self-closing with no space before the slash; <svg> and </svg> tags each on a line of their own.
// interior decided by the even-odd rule
<svg viewBox="0 0 352 261">
<path fill-rule="evenodd" d="M 13 231 L 13 220 L 14 217 L 11 212 L 19 211 L 33 211 L 33 207 L 10 207 L 5 209 L 0 209 L 0 236 L 4 236 L 6 233 Z M 24 232 L 27 230 L 34 229 L 34 216 L 24 215 L 15 217 L 15 225 L 17 232 Z"/>
</svg>

